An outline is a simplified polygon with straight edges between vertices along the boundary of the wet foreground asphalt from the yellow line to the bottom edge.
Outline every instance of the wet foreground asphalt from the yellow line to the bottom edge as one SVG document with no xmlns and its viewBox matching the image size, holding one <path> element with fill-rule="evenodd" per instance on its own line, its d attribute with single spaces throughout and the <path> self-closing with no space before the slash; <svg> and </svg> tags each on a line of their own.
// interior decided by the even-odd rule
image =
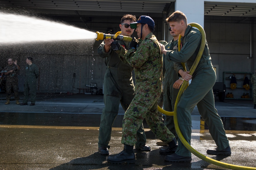
<svg viewBox="0 0 256 170">
<path fill-rule="evenodd" d="M 199 117 L 200 118 L 200 117 Z M 194 119 L 194 117 L 193 117 Z M 57 119 L 56 119 L 57 120 Z M 200 120 L 200 119 L 199 119 Z M 72 122 L 72 121 L 71 121 Z M 198 122 L 197 120 L 193 122 Z M 200 121 L 199 121 L 200 122 Z M 197 125 L 194 123 L 193 128 Z M 98 153 L 98 127 L 76 126 L 26 126 L 0 125 L 0 169 L 5 170 L 205 170 L 226 169 L 205 162 L 192 154 L 192 161 L 166 162 L 165 155 L 159 154 L 158 139 L 148 137 L 150 131 L 146 129 L 147 145 L 150 152 L 134 149 L 136 161 L 134 164 L 110 164 L 107 156 Z M 215 148 L 208 130 L 195 130 L 191 134 L 191 146 L 209 158 L 228 164 L 255 167 L 255 131 L 228 130 L 231 156 L 216 156 L 206 154 L 206 149 Z M 122 129 L 112 129 L 110 154 L 117 154 L 123 150 L 121 144 Z"/>
</svg>

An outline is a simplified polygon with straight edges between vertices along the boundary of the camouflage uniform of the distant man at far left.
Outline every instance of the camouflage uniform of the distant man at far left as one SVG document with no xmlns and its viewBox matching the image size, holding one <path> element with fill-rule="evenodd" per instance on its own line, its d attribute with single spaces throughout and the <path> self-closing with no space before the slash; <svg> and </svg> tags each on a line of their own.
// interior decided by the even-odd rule
<svg viewBox="0 0 256 170">
<path fill-rule="evenodd" d="M 11 91 L 13 89 L 15 100 L 19 100 L 19 87 L 18 87 L 18 68 L 15 64 L 7 65 L 4 68 L 4 72 L 8 72 L 10 70 L 13 70 L 12 73 L 7 74 L 6 77 L 6 99 L 10 100 L 11 98 Z"/>
</svg>

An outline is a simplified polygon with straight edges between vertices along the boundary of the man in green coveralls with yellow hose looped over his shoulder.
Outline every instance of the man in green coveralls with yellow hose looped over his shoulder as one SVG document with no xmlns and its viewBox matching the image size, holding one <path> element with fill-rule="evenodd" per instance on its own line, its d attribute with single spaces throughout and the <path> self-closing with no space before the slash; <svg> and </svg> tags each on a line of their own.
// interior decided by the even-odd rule
<svg viewBox="0 0 256 170">
<path fill-rule="evenodd" d="M 199 114 L 208 125 L 209 132 L 217 145 L 217 148 L 208 149 L 206 153 L 211 155 L 231 155 L 231 149 L 223 123 L 214 107 L 212 87 L 216 82 L 216 73 L 211 64 L 208 44 L 207 42 L 205 43 L 201 59 L 193 75 L 190 75 L 189 71 L 185 72 L 183 70 L 181 62 L 187 62 L 190 70 L 199 51 L 201 33 L 199 30 L 187 24 L 185 14 L 180 11 L 175 11 L 166 19 L 166 22 L 169 23 L 171 30 L 174 31 L 175 34 L 182 36 L 182 48 L 180 51 L 166 50 L 165 47 L 160 44 L 161 51 L 166 55 L 169 61 L 175 62 L 175 70 L 178 70 L 180 77 L 185 81 L 189 81 L 192 78 L 190 85 L 184 91 L 177 105 L 177 119 L 181 133 L 190 144 L 191 112 L 197 105 Z M 179 139 L 178 144 L 176 152 L 165 156 L 165 160 L 170 162 L 191 161 L 191 152 Z"/>
</svg>

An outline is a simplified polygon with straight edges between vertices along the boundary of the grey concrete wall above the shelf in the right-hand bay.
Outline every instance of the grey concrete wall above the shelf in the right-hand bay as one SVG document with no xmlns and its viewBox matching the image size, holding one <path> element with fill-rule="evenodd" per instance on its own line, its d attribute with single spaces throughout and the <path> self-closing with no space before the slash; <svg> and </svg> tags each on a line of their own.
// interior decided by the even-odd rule
<svg viewBox="0 0 256 170">
<path fill-rule="evenodd" d="M 226 17 L 227 21 L 231 20 Z M 232 20 L 240 20 L 232 17 Z M 254 67 L 250 56 L 250 23 L 223 23 L 218 17 L 207 17 L 206 39 L 209 44 L 213 64 L 219 64 L 219 71 L 252 72 Z M 254 24 L 255 28 L 255 24 Z M 255 32 L 255 29 L 253 30 Z M 255 44 L 255 35 L 254 35 Z M 253 47 L 255 49 L 255 45 Z M 220 75 L 222 80 L 222 75 Z"/>
</svg>

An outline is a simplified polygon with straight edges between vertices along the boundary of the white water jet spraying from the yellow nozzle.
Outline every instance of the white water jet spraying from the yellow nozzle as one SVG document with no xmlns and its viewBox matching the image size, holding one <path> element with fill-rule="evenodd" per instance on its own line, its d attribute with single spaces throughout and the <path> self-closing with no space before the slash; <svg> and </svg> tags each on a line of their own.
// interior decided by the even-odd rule
<svg viewBox="0 0 256 170">
<path fill-rule="evenodd" d="M 95 32 L 72 25 L 0 12 L 0 44 L 93 38 Z"/>
</svg>

